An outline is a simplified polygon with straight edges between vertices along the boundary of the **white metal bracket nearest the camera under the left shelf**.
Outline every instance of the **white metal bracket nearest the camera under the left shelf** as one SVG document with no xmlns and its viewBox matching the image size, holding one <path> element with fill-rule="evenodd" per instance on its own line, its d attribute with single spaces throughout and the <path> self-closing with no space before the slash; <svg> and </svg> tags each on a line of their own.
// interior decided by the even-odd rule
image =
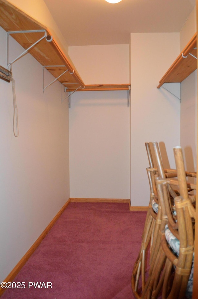
<svg viewBox="0 0 198 299">
<path fill-rule="evenodd" d="M 17 33 L 35 33 L 35 32 L 44 32 L 44 36 L 42 36 L 39 40 L 37 40 L 35 43 L 33 43 L 28 49 L 26 49 L 22 54 L 20 54 L 17 58 L 15 58 L 12 62 L 9 63 L 9 36 L 10 34 L 17 34 Z M 23 31 L 9 31 L 7 32 L 7 69 L 14 63 L 16 60 L 24 56 L 25 53 L 27 53 L 32 47 L 34 47 L 37 43 L 39 43 L 42 39 L 46 39 L 47 42 L 52 41 L 52 36 L 47 35 L 46 30 L 23 30 Z"/>
</svg>

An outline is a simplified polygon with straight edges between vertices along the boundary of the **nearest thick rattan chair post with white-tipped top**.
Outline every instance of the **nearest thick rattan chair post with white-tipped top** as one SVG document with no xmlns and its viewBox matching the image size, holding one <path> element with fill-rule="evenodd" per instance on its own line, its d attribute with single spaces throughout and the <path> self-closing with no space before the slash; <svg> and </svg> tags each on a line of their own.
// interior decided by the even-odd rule
<svg viewBox="0 0 198 299">
<path fill-rule="evenodd" d="M 175 198 L 180 247 L 170 296 L 175 296 L 175 294 L 177 294 L 178 298 L 182 298 L 186 292 L 187 285 L 189 285 L 189 275 L 192 269 L 194 252 L 192 218 L 195 218 L 195 208 L 192 206 L 191 199 L 188 195 L 181 147 L 174 147 L 174 157 L 180 192 L 180 196 Z M 194 188 L 196 188 L 196 186 L 194 186 Z"/>
</svg>

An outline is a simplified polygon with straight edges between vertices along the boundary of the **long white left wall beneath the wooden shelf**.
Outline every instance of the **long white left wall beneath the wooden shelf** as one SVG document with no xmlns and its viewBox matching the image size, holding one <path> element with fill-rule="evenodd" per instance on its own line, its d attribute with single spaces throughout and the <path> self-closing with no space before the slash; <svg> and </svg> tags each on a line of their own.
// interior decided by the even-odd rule
<svg viewBox="0 0 198 299">
<path fill-rule="evenodd" d="M 10 38 L 10 61 L 23 52 Z M 0 65 L 6 32 L 0 28 Z M 13 64 L 19 137 L 13 134 L 12 86 L 0 80 L 0 281 L 69 199 L 68 106 L 61 84 L 42 91 L 42 66 L 27 54 Z M 45 84 L 54 79 L 47 71 Z"/>
</svg>

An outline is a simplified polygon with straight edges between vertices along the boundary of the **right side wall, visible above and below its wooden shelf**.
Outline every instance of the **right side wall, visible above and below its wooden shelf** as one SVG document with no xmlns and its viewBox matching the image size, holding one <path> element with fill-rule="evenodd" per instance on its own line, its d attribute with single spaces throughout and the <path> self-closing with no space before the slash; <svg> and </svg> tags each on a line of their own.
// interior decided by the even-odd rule
<svg viewBox="0 0 198 299">
<path fill-rule="evenodd" d="M 180 50 L 196 33 L 196 7 L 180 31 Z M 181 147 L 187 171 L 196 171 L 197 144 L 197 70 L 181 83 Z"/>
</svg>

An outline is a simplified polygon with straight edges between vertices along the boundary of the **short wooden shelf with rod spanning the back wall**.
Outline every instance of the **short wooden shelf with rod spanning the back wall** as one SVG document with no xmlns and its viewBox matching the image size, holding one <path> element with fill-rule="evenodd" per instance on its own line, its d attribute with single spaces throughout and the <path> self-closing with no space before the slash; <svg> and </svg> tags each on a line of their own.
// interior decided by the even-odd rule
<svg viewBox="0 0 198 299">
<path fill-rule="evenodd" d="M 64 84 L 63 84 L 64 85 Z M 79 88 L 76 91 L 108 91 L 108 90 L 129 90 L 130 84 L 92 84 L 92 85 L 85 85 L 85 88 Z M 67 91 L 74 91 L 75 88 L 69 87 Z"/>
</svg>

